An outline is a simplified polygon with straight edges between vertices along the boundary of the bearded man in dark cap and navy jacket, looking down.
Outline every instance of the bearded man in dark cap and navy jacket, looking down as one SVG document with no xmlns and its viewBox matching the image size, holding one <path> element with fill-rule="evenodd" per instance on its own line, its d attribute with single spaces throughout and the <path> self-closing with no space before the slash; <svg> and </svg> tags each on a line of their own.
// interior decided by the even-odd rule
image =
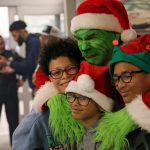
<svg viewBox="0 0 150 150">
<path fill-rule="evenodd" d="M 10 61 L 3 59 L 3 63 L 9 64 L 19 74 L 26 74 L 31 89 L 34 89 L 32 83 L 32 74 L 36 68 L 40 52 L 40 39 L 36 34 L 30 34 L 26 30 L 26 23 L 18 20 L 10 25 L 10 32 L 14 40 L 21 46 L 25 42 L 26 56 L 23 61 Z"/>
</svg>

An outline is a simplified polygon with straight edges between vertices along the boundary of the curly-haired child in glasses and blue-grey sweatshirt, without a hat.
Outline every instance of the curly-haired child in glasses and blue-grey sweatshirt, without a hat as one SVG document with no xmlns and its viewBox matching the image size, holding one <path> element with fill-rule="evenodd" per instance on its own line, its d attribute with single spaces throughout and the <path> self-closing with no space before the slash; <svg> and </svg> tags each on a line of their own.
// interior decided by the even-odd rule
<svg viewBox="0 0 150 150">
<path fill-rule="evenodd" d="M 34 106 L 37 109 L 33 109 L 15 130 L 14 150 L 63 149 L 61 143 L 54 143 L 48 127 L 50 112 L 44 103 L 51 95 L 65 92 L 68 83 L 76 76 L 82 60 L 76 42 L 71 39 L 54 41 L 41 51 L 39 64 L 51 82 L 47 82 L 42 92 L 36 94 Z"/>
</svg>

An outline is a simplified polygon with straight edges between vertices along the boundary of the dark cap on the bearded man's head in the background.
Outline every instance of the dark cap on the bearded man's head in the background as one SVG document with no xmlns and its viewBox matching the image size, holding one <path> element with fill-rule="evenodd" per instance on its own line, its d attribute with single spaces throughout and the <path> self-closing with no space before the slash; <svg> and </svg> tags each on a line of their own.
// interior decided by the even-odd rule
<svg viewBox="0 0 150 150">
<path fill-rule="evenodd" d="M 15 30 L 21 30 L 21 29 L 25 29 L 27 27 L 26 23 L 22 20 L 18 20 L 18 21 L 14 21 L 10 27 L 9 27 L 9 31 L 15 31 Z"/>
</svg>

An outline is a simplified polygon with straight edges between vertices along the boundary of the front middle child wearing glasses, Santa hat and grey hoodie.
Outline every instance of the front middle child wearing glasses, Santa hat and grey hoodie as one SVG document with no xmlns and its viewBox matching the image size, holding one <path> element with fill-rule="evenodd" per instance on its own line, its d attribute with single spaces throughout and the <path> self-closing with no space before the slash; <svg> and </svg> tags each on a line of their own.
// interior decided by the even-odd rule
<svg viewBox="0 0 150 150">
<path fill-rule="evenodd" d="M 112 110 L 113 100 L 109 97 L 107 67 L 104 68 L 101 68 L 98 78 L 95 78 L 94 74 L 92 76 L 81 74 L 77 81 L 71 81 L 65 90 L 72 117 L 80 120 L 86 129 L 86 133 L 77 144 L 78 150 L 96 150 L 99 147 L 100 143 L 93 142 L 97 132 L 94 129 L 100 122 L 102 112 Z M 99 86 L 99 82 L 103 86 Z"/>
</svg>

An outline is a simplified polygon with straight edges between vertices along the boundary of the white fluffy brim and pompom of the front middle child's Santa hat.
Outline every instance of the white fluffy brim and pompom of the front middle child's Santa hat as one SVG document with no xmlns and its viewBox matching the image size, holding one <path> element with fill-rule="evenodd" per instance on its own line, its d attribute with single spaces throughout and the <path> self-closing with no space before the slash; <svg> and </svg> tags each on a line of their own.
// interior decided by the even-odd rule
<svg viewBox="0 0 150 150">
<path fill-rule="evenodd" d="M 94 88 L 94 81 L 89 75 L 82 74 L 77 81 L 71 81 L 65 92 L 73 92 L 94 100 L 106 111 L 111 111 L 113 100 Z"/>
</svg>

